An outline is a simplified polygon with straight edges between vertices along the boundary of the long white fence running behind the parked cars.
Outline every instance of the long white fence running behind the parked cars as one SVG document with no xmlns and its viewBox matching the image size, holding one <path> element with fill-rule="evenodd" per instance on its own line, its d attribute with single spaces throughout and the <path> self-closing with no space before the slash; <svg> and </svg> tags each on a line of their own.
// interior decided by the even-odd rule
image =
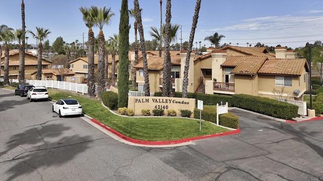
<svg viewBox="0 0 323 181">
<path fill-rule="evenodd" d="M 26 80 L 26 82 L 34 86 L 45 86 L 47 88 L 65 89 L 76 93 L 82 93 L 82 95 L 87 94 L 87 84 L 56 80 Z"/>
</svg>

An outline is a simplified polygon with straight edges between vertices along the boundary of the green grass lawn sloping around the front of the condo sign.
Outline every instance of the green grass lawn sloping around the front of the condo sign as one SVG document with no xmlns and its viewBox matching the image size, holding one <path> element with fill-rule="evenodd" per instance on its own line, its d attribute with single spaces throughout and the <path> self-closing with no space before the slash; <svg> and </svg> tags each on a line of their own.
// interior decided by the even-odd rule
<svg viewBox="0 0 323 181">
<path fill-rule="evenodd" d="M 122 117 L 105 109 L 101 105 L 101 102 L 88 99 L 81 94 L 51 88 L 47 90 L 49 98 L 52 100 L 58 101 L 65 98 L 77 99 L 83 107 L 83 113 L 125 136 L 138 140 L 167 141 L 229 131 L 228 129 L 204 121 L 202 121 L 200 131 L 199 120 L 180 117 Z"/>
</svg>

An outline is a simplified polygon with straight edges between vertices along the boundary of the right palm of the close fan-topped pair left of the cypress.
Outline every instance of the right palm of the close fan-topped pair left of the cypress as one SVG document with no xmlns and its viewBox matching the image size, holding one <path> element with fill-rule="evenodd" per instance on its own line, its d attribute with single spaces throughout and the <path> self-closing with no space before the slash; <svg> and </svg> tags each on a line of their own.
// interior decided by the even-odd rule
<svg viewBox="0 0 323 181">
<path fill-rule="evenodd" d="M 98 63 L 97 63 L 97 99 L 101 100 L 101 92 L 104 91 L 105 82 L 104 82 L 104 45 L 105 39 L 103 34 L 103 26 L 109 25 L 111 22 L 111 17 L 115 14 L 111 11 L 111 8 L 106 9 L 105 6 L 103 8 L 98 8 L 96 6 L 92 6 L 91 10 L 93 15 L 96 15 L 94 20 L 94 24 L 96 27 L 100 29 L 98 35 Z"/>
</svg>

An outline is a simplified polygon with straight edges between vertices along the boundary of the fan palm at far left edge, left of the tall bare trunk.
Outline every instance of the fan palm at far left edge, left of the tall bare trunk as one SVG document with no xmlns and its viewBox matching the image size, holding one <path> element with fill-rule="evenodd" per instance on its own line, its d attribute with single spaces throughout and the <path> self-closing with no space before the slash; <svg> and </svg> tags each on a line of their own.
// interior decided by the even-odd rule
<svg viewBox="0 0 323 181">
<path fill-rule="evenodd" d="M 2 27 L 0 40 L 5 42 L 5 65 L 4 65 L 4 85 L 9 86 L 9 46 L 8 44 L 15 39 L 14 29 L 7 26 Z"/>
</svg>

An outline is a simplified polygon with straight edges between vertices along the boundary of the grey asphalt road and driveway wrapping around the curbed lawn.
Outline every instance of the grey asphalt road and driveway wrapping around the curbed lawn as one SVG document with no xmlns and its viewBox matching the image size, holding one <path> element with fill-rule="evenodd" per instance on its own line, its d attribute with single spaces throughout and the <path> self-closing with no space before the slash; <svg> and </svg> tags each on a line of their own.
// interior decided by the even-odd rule
<svg viewBox="0 0 323 181">
<path fill-rule="evenodd" d="M 241 133 L 174 147 L 138 147 L 50 102 L 0 89 L 0 180 L 315 180 L 322 121 L 281 123 L 237 109 Z M 318 179 L 319 180 L 319 179 Z"/>
</svg>

